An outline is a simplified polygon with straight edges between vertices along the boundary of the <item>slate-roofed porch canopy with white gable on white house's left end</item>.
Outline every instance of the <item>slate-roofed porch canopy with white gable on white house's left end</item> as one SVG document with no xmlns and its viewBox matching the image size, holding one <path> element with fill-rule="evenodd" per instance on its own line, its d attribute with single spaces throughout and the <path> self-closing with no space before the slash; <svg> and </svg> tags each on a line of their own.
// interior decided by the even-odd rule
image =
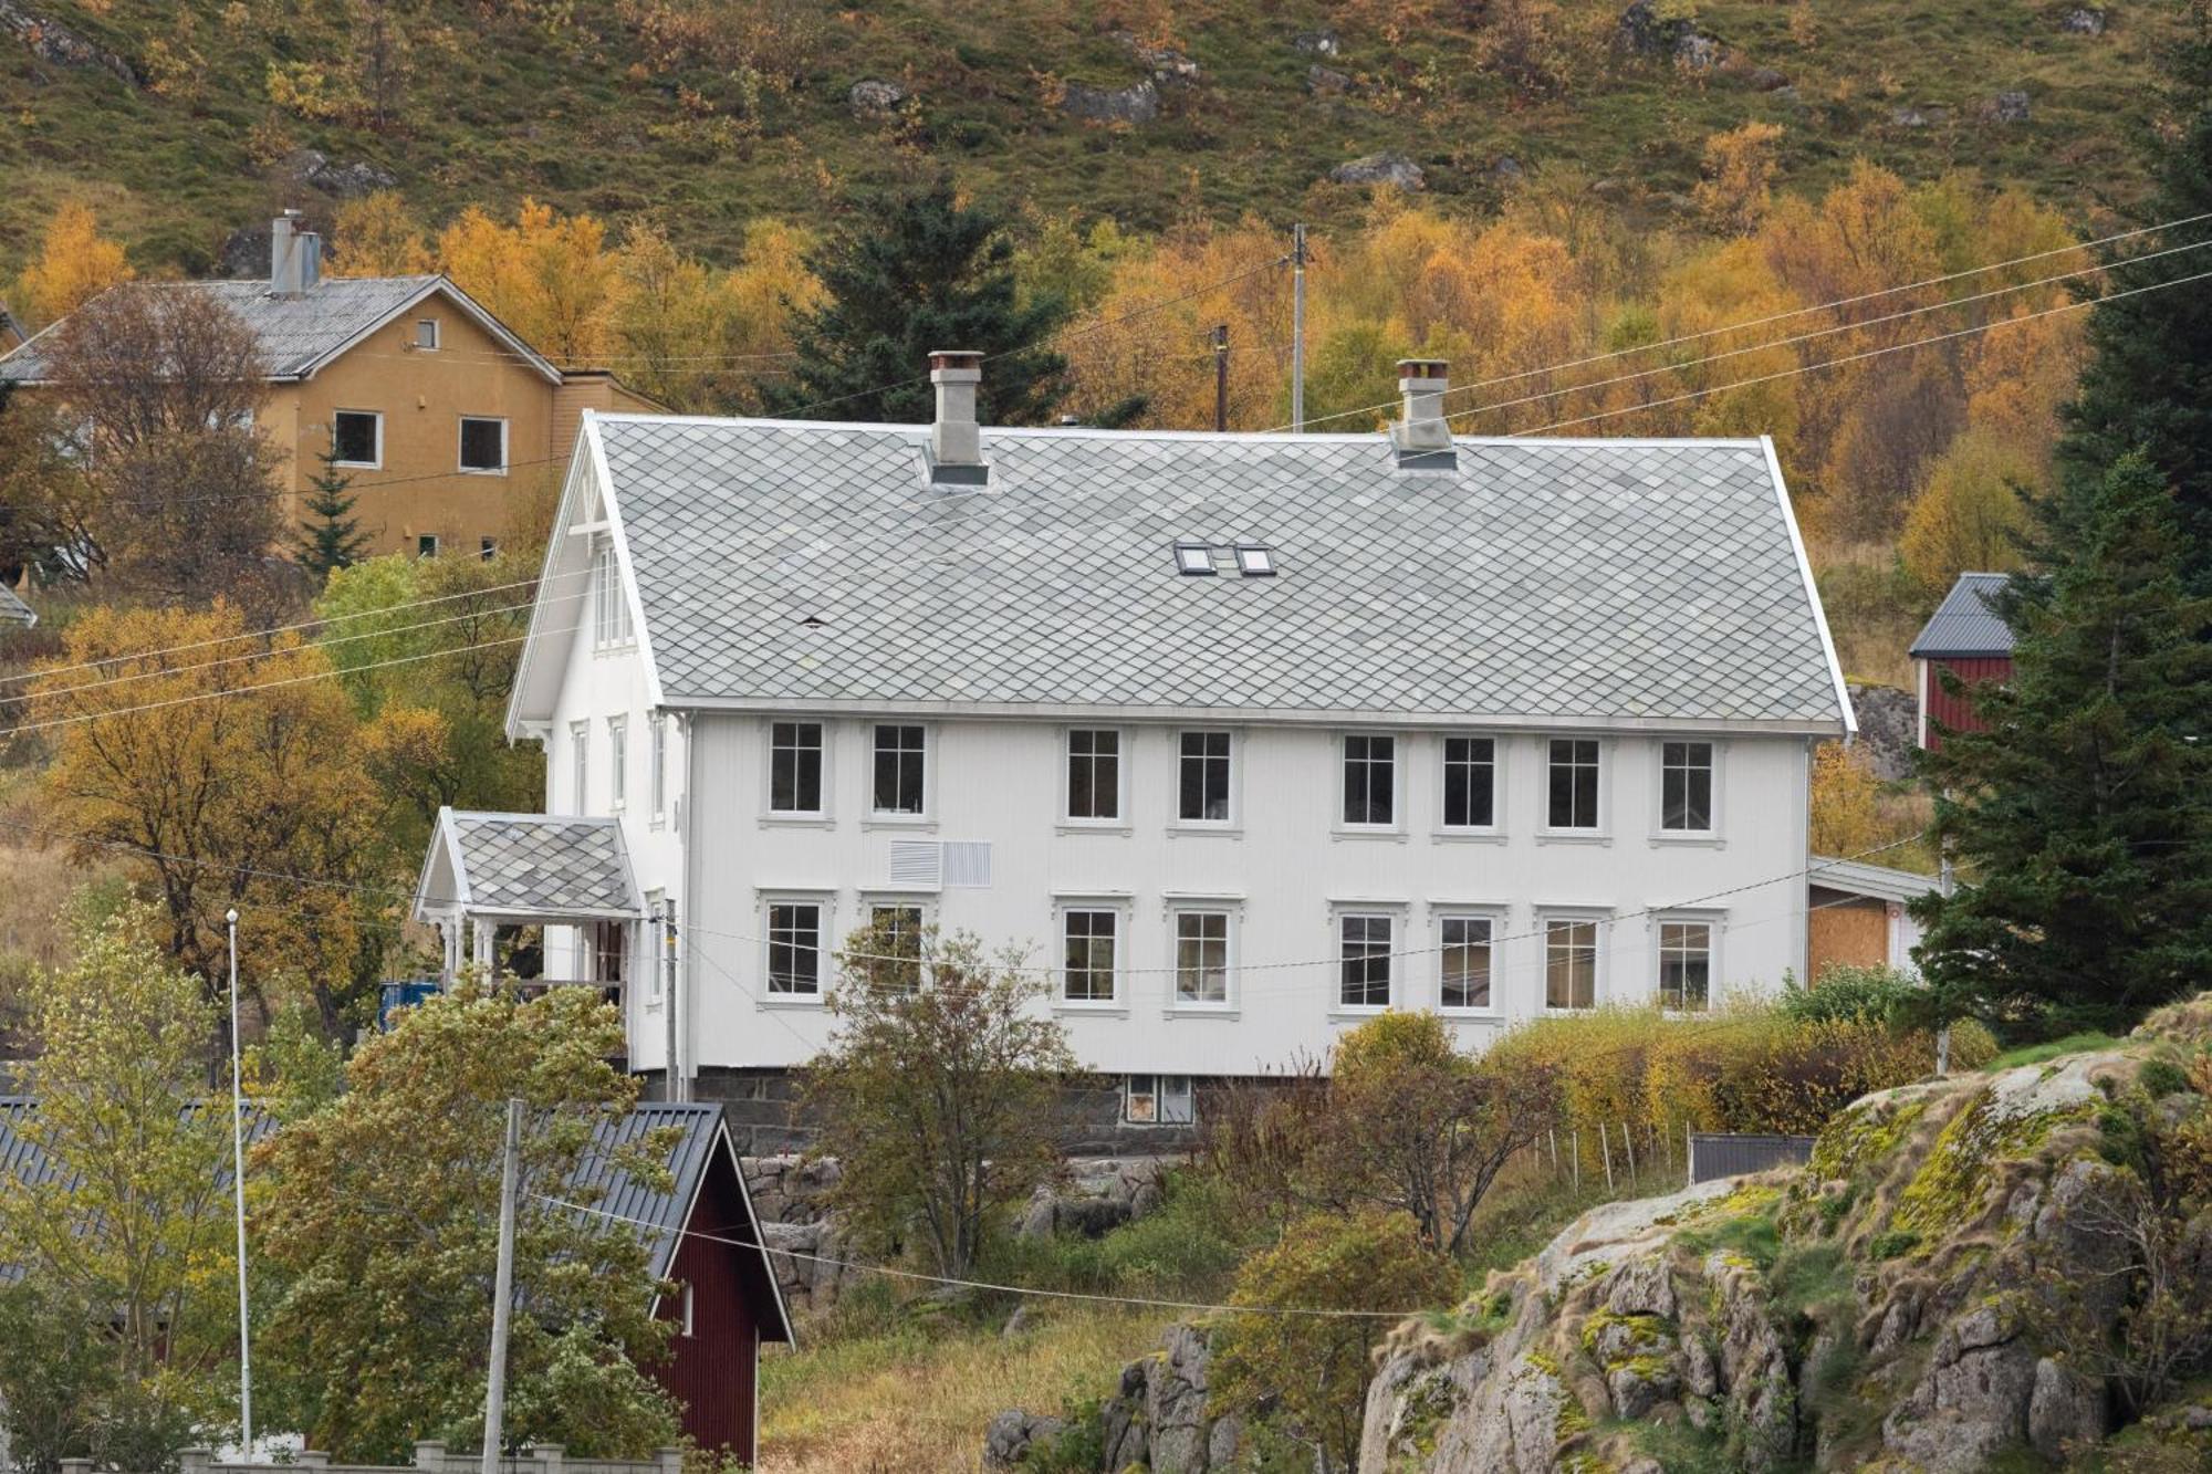
<svg viewBox="0 0 2212 1474">
<path fill-rule="evenodd" d="M 445 980 L 451 985 L 469 963 L 493 965 L 500 927 L 628 934 L 644 921 L 646 905 L 615 819 L 440 808 L 416 881 L 414 916 L 445 938 Z"/>
</svg>

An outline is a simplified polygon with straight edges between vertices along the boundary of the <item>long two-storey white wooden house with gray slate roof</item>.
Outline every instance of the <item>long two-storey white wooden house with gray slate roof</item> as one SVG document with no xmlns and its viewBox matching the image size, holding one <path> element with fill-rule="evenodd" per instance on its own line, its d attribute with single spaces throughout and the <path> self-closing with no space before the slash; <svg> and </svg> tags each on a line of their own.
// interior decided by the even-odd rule
<svg viewBox="0 0 2212 1474">
<path fill-rule="evenodd" d="M 1467 1045 L 1805 967 L 1849 702 L 1767 440 L 586 416 L 449 963 L 546 925 L 630 1062 L 757 1093 L 872 918 L 1011 943 L 1128 1120 L 1380 1009 Z M 672 916 L 664 927 L 655 916 Z"/>
</svg>

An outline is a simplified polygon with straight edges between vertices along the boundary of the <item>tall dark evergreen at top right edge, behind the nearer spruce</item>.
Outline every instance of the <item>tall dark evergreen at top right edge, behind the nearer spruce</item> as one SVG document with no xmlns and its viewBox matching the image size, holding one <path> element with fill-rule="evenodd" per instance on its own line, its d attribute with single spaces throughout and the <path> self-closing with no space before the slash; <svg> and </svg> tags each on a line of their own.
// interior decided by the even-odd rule
<svg viewBox="0 0 2212 1474">
<path fill-rule="evenodd" d="M 2212 4 L 2192 0 L 2188 11 L 2163 58 L 2163 126 L 2146 128 L 2141 142 L 2154 181 L 2132 208 L 2141 226 L 2212 215 Z M 2121 252 L 2139 252 L 2143 241 L 2185 246 L 2208 230 L 2194 224 L 2141 237 Z M 2108 266 L 2106 292 L 2124 292 L 2197 277 L 2205 259 L 2185 252 L 2128 261 L 2115 252 Z M 2106 469 L 2143 451 L 2179 500 L 2190 584 L 2212 591 L 2212 281 L 2106 301 L 2090 312 L 2088 341 L 2095 356 L 2066 416 L 2062 489 L 2042 507 L 2039 562 L 2055 567 L 2066 556 Z"/>
</svg>

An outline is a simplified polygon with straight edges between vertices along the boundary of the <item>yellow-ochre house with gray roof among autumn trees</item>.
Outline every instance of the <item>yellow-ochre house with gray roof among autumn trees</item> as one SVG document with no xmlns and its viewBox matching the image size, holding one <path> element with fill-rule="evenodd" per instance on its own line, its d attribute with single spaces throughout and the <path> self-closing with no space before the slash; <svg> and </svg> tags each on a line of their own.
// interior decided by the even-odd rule
<svg viewBox="0 0 2212 1474">
<path fill-rule="evenodd" d="M 659 409 L 604 370 L 555 367 L 445 277 L 323 277 L 294 219 L 274 221 L 268 281 L 168 290 L 212 294 L 259 336 L 261 427 L 296 520 L 334 451 L 372 553 L 489 556 L 584 409 Z M 44 332 L 0 356 L 0 381 L 46 383 Z"/>
</svg>

